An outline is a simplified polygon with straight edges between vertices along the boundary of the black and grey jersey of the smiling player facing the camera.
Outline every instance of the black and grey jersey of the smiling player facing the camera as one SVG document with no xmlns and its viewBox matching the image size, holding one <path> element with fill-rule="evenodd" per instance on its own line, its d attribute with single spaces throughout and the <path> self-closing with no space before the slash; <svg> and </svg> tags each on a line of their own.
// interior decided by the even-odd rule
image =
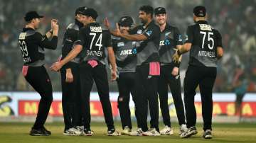
<svg viewBox="0 0 256 143">
<path fill-rule="evenodd" d="M 174 63 L 172 57 L 176 52 L 176 46 L 182 44 L 182 35 L 178 28 L 166 23 L 166 27 L 161 32 L 159 42 L 159 56 L 161 65 Z M 178 64 L 176 66 L 178 66 Z"/>
</svg>

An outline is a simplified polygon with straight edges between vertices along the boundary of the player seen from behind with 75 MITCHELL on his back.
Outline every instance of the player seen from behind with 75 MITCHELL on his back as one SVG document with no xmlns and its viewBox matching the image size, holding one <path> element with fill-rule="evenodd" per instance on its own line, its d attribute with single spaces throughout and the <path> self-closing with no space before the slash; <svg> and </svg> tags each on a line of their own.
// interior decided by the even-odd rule
<svg viewBox="0 0 256 143">
<path fill-rule="evenodd" d="M 217 74 L 217 61 L 223 56 L 221 35 L 206 21 L 206 8 L 193 8 L 193 19 L 196 22 L 189 25 L 186 32 L 185 44 L 176 52 L 174 60 L 185 52 L 190 51 L 188 69 L 184 79 L 184 103 L 188 131 L 181 137 L 196 135 L 196 108 L 194 96 L 199 85 L 203 114 L 203 137 L 211 139 L 213 114 L 213 85 Z"/>
</svg>

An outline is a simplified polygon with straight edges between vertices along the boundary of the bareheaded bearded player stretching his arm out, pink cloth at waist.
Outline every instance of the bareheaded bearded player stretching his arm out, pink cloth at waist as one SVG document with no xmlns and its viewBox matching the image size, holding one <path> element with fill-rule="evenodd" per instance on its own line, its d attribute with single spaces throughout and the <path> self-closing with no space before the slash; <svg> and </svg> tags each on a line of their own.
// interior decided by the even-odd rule
<svg viewBox="0 0 256 143">
<path fill-rule="evenodd" d="M 159 64 L 159 26 L 154 23 L 154 8 L 141 6 L 139 18 L 142 25 L 132 30 L 135 34 L 120 33 L 117 29 L 112 31 L 113 35 L 137 42 L 137 67 L 134 100 L 137 104 L 138 128 L 130 135 L 159 136 L 159 102 L 157 96 L 157 85 L 160 75 Z M 149 104 L 148 104 L 149 103 Z M 150 110 L 150 129 L 147 126 L 147 107 Z"/>
</svg>

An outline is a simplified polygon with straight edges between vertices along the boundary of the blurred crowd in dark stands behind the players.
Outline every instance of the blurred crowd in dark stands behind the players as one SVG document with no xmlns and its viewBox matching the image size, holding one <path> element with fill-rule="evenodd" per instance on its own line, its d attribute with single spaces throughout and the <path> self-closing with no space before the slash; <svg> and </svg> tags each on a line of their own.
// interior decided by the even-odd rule
<svg viewBox="0 0 256 143">
<path fill-rule="evenodd" d="M 57 18 L 60 25 L 58 50 L 46 52 L 46 67 L 55 62 L 61 53 L 61 42 L 65 28 L 74 21 L 75 8 L 88 6 L 98 11 L 97 21 L 109 18 L 114 23 L 119 17 L 129 15 L 140 24 L 139 6 L 163 6 L 167 10 L 169 23 L 176 25 L 181 33 L 193 24 L 193 7 L 206 6 L 209 23 L 217 28 L 223 37 L 224 57 L 219 62 L 218 77 L 214 92 L 233 92 L 240 86 L 246 92 L 256 91 L 256 0 L 58 0 L 58 1 L 15 1 L 1 0 L 0 5 L 0 91 L 31 91 L 21 74 L 23 60 L 18 49 L 18 34 L 27 11 L 43 14 L 39 32 L 50 30 L 50 19 Z M 186 71 L 188 54 L 183 56 L 181 74 Z M 60 74 L 48 72 L 52 79 L 53 90 L 61 91 Z M 181 75 L 182 76 L 182 75 Z M 116 83 L 110 83 L 111 91 L 117 91 Z"/>
</svg>

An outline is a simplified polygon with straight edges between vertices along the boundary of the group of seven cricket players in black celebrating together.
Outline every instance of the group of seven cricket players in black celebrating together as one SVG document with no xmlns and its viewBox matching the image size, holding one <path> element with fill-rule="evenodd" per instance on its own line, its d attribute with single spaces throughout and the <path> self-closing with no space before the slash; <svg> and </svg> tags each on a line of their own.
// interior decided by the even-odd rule
<svg viewBox="0 0 256 143">
<path fill-rule="evenodd" d="M 199 85 L 203 110 L 203 138 L 212 138 L 212 90 L 217 73 L 217 61 L 223 56 L 221 35 L 206 21 L 206 8 L 193 8 L 195 24 L 186 35 L 167 23 L 166 9 L 141 6 L 135 26 L 131 16 L 122 16 L 111 28 L 107 18 L 97 23 L 97 11 L 80 7 L 75 22 L 66 28 L 62 55 L 50 69 L 60 71 L 64 135 L 91 136 L 90 91 L 95 82 L 100 96 L 108 136 L 173 135 L 168 105 L 168 91 L 174 99 L 181 138 L 196 135 L 194 96 Z M 53 89 L 44 65 L 44 48 L 55 50 L 58 43 L 58 21 L 51 21 L 46 35 L 36 32 L 40 23 L 36 11 L 26 13 L 26 27 L 18 38 L 23 55 L 22 73 L 26 81 L 40 94 L 36 122 L 30 135 L 48 136 L 44 124 L 53 101 Z M 182 54 L 190 51 L 184 79 L 184 105 L 181 98 L 179 66 Z M 117 81 L 117 98 L 122 131 L 114 127 L 106 60 L 110 64 L 111 81 Z M 130 95 L 135 105 L 137 129 L 132 128 L 129 109 Z M 159 102 L 164 128 L 159 129 Z M 185 108 L 184 108 L 185 107 Z M 186 110 L 186 112 L 185 112 Z M 150 125 L 147 125 L 148 112 Z"/>
</svg>

